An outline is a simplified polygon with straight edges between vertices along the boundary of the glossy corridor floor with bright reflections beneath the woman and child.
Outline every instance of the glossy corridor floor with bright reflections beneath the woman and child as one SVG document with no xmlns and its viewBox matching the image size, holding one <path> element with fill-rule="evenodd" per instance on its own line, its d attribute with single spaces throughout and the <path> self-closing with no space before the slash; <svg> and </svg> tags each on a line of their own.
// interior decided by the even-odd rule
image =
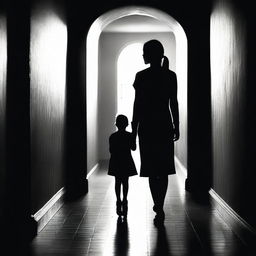
<svg viewBox="0 0 256 256">
<path fill-rule="evenodd" d="M 31 255 L 256 255 L 209 205 L 190 198 L 181 174 L 169 176 L 164 227 L 153 225 L 147 178 L 130 178 L 128 201 L 127 222 L 120 224 L 114 179 L 101 168 L 89 178 L 89 193 L 65 204 L 32 241 Z"/>
</svg>

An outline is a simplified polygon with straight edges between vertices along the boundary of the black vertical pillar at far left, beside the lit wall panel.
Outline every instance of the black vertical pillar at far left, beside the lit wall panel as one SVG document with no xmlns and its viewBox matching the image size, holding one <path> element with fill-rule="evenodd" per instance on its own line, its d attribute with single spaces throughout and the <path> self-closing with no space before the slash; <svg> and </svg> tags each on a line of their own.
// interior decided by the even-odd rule
<svg viewBox="0 0 256 256">
<path fill-rule="evenodd" d="M 6 171 L 1 181 L 4 182 L 1 227 L 5 234 L 3 244 L 8 246 L 12 237 L 16 246 L 10 248 L 16 249 L 35 234 L 30 216 L 30 3 L 10 0 L 2 1 L 0 5 L 3 3 L 6 5 L 7 63 L 6 98 L 2 98 L 5 137 L 1 154 L 5 156 Z"/>
</svg>

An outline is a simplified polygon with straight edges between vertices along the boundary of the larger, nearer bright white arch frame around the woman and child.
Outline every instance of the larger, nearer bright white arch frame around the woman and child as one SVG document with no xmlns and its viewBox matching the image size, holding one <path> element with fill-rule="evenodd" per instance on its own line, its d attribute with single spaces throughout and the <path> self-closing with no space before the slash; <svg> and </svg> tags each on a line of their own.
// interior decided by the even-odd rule
<svg viewBox="0 0 256 256">
<path fill-rule="evenodd" d="M 98 141 L 98 111 L 99 95 L 99 39 L 102 31 L 112 22 L 138 15 L 150 17 L 158 22 L 166 24 L 175 37 L 176 42 L 176 67 L 175 72 L 178 79 L 178 100 L 180 105 L 180 132 L 181 139 L 176 144 L 176 156 L 185 167 L 187 165 L 187 38 L 181 25 L 168 14 L 145 6 L 129 6 L 111 10 L 101 15 L 92 24 L 87 36 L 87 170 L 92 171 L 99 163 L 99 141 Z M 121 51 L 121 49 L 120 49 Z M 111 68 L 111 64 L 109 65 Z M 109 101 L 110 102 L 110 101 Z M 116 111 L 116 109 L 115 109 Z M 115 112 L 114 111 L 114 112 Z M 113 125 L 113 120 L 110 120 Z M 106 141 L 107 142 L 107 141 Z"/>
</svg>

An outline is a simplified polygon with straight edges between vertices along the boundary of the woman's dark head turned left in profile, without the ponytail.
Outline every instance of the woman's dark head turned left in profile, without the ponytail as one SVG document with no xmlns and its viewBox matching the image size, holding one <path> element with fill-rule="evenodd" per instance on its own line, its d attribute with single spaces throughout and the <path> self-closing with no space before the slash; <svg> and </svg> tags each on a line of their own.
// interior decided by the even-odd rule
<svg viewBox="0 0 256 256">
<path fill-rule="evenodd" d="M 160 62 L 164 57 L 164 47 L 156 39 L 147 41 L 143 46 L 143 58 L 145 64 Z"/>
</svg>

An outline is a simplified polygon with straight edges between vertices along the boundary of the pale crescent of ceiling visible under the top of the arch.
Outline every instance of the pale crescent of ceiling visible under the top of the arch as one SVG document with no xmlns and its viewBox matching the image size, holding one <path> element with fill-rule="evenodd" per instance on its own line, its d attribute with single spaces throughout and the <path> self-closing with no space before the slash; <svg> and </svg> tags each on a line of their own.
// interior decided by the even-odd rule
<svg viewBox="0 0 256 256">
<path fill-rule="evenodd" d="M 148 33 L 148 32 L 172 32 L 165 23 L 144 15 L 130 15 L 119 18 L 107 25 L 103 32 L 123 33 Z"/>
</svg>

